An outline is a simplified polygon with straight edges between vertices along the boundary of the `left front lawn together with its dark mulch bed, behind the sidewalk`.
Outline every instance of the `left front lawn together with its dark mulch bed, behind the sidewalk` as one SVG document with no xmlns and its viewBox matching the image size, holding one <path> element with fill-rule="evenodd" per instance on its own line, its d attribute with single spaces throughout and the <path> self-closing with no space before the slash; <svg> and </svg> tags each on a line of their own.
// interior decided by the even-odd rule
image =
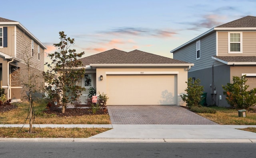
<svg viewBox="0 0 256 158">
<path fill-rule="evenodd" d="M 29 124 L 28 104 L 12 103 L 17 108 L 9 111 L 0 111 L 0 124 Z M 108 113 L 92 114 L 91 109 L 67 109 L 65 114 L 51 107 L 46 109 L 47 101 L 34 102 L 36 124 L 111 124 Z M 0 107 L 3 108 L 3 107 Z M 54 110 L 52 110 L 54 109 Z M 57 109 L 58 110 L 58 109 Z"/>
</svg>

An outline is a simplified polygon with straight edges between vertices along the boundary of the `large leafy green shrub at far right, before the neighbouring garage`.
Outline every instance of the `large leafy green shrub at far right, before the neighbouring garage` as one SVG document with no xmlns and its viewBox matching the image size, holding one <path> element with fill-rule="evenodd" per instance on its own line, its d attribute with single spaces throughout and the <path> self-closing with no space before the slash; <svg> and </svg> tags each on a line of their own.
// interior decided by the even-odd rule
<svg viewBox="0 0 256 158">
<path fill-rule="evenodd" d="M 222 86 L 226 101 L 236 109 L 248 109 L 256 104 L 256 88 L 247 91 L 249 86 L 246 85 L 246 81 L 246 75 L 233 76 L 232 84 L 227 83 L 226 86 Z"/>
</svg>

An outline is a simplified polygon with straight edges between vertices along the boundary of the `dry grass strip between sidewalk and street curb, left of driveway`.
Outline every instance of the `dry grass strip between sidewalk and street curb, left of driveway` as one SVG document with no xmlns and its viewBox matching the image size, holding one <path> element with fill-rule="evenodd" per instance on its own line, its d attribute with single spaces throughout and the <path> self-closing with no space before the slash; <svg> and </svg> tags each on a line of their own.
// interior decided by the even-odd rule
<svg viewBox="0 0 256 158">
<path fill-rule="evenodd" d="M 1 138 L 88 138 L 97 135 L 108 128 L 35 128 L 33 133 L 28 133 L 28 128 L 2 127 Z"/>
</svg>

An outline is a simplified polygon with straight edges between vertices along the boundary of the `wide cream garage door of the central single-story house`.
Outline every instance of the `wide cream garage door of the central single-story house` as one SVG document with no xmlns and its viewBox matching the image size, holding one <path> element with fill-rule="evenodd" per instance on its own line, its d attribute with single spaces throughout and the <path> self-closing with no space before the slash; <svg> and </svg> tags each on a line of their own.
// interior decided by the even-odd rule
<svg viewBox="0 0 256 158">
<path fill-rule="evenodd" d="M 175 74 L 107 75 L 108 105 L 174 105 Z"/>
</svg>

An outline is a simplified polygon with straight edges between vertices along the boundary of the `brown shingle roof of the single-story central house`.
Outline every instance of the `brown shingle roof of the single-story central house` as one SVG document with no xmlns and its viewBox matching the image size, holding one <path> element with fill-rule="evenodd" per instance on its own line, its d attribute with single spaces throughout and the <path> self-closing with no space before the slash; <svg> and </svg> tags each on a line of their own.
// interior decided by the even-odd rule
<svg viewBox="0 0 256 158">
<path fill-rule="evenodd" d="M 80 60 L 84 66 L 90 64 L 189 64 L 188 62 L 139 50 L 125 52 L 118 49 L 110 49 L 96 55 L 84 57 Z"/>
</svg>

